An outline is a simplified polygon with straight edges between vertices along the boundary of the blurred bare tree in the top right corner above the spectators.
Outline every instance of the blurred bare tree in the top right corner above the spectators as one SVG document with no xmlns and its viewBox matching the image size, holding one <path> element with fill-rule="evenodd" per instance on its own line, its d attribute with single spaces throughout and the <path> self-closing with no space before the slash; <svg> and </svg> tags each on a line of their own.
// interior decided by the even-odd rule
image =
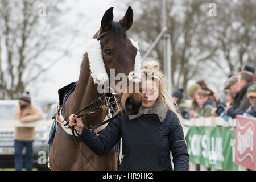
<svg viewBox="0 0 256 182">
<path fill-rule="evenodd" d="M 212 32 L 218 50 L 212 57 L 213 63 L 225 75 L 241 71 L 245 64 L 256 67 L 256 2 L 228 0 L 215 3 L 218 14 L 212 19 Z"/>
</svg>

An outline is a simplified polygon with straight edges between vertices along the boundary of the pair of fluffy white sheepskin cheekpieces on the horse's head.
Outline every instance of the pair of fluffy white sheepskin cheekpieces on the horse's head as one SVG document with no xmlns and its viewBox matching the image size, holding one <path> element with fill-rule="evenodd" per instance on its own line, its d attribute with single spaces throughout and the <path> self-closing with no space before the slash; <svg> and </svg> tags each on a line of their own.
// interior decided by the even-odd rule
<svg viewBox="0 0 256 182">
<path fill-rule="evenodd" d="M 135 57 L 134 73 L 139 79 L 141 77 L 141 54 L 139 52 L 138 42 L 130 39 L 133 46 L 137 48 L 137 55 Z M 86 52 L 88 53 L 88 59 L 90 64 L 90 73 L 93 78 L 94 84 L 104 84 L 109 81 L 109 76 L 106 73 L 105 64 L 102 57 L 102 50 L 100 41 L 92 39 L 86 46 Z"/>
</svg>

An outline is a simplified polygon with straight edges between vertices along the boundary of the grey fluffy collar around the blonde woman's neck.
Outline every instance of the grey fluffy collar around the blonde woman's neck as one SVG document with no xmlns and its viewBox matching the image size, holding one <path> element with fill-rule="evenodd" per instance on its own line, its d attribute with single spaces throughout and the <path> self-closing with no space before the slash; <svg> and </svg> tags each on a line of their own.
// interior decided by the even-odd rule
<svg viewBox="0 0 256 182">
<path fill-rule="evenodd" d="M 128 118 L 130 120 L 140 117 L 142 114 L 157 114 L 160 122 L 163 122 L 166 118 L 166 114 L 168 111 L 168 106 L 164 104 L 162 101 L 157 100 L 150 109 L 146 110 L 142 106 L 139 108 L 139 113 L 136 115 L 129 115 Z"/>
</svg>

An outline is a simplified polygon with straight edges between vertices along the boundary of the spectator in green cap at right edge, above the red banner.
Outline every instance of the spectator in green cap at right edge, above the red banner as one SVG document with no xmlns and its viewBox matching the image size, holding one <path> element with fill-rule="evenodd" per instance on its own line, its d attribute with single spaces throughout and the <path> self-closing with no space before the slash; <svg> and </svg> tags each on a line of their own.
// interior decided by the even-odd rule
<svg viewBox="0 0 256 182">
<path fill-rule="evenodd" d="M 248 87 L 246 97 L 249 98 L 251 106 L 247 110 L 237 110 L 232 108 L 225 108 L 225 114 L 235 118 L 236 115 L 243 115 L 244 113 L 256 117 L 256 84 Z"/>
</svg>

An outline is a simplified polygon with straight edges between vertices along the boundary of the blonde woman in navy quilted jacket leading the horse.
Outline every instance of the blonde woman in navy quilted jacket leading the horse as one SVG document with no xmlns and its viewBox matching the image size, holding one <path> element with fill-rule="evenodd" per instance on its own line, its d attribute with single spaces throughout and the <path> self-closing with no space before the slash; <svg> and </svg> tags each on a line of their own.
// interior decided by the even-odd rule
<svg viewBox="0 0 256 182">
<path fill-rule="evenodd" d="M 142 107 L 137 115 L 119 115 L 98 137 L 74 114 L 69 116 L 69 126 L 75 126 L 82 141 L 97 155 L 104 155 L 122 137 L 125 156 L 121 170 L 187 170 L 189 155 L 183 129 L 158 63 L 146 64 L 141 73 Z"/>
</svg>

